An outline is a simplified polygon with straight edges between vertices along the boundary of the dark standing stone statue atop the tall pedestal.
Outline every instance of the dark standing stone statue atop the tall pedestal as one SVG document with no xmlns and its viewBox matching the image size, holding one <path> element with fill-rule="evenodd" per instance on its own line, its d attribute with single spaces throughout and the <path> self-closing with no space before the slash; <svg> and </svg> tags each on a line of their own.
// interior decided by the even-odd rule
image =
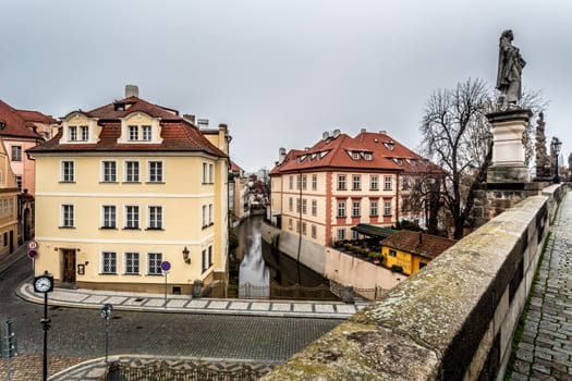
<svg viewBox="0 0 572 381">
<path fill-rule="evenodd" d="M 498 106 L 501 110 L 515 107 L 521 99 L 521 73 L 526 62 L 519 48 L 512 45 L 513 38 L 511 29 L 500 36 L 497 89 L 500 91 Z"/>
</svg>

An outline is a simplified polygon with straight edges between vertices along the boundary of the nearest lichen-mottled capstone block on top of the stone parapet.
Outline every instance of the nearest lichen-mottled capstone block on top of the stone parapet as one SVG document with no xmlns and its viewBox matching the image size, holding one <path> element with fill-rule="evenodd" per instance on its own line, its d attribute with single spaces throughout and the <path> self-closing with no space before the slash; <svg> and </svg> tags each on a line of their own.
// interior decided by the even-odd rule
<svg viewBox="0 0 572 381">
<path fill-rule="evenodd" d="M 260 380 L 434 380 L 438 362 L 407 335 L 345 322 Z"/>
</svg>

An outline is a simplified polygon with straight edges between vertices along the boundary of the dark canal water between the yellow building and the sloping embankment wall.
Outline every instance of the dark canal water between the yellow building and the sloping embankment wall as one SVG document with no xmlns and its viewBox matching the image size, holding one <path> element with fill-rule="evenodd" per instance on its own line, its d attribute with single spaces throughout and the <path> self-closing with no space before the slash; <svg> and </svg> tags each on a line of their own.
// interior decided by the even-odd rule
<svg viewBox="0 0 572 381">
<path fill-rule="evenodd" d="M 261 238 L 263 219 L 263 216 L 253 216 L 234 229 L 239 247 L 231 256 L 230 283 L 236 291 L 232 295 L 229 290 L 229 296 L 253 297 L 254 294 L 260 298 L 337 299 L 328 291 L 327 279 Z"/>
</svg>

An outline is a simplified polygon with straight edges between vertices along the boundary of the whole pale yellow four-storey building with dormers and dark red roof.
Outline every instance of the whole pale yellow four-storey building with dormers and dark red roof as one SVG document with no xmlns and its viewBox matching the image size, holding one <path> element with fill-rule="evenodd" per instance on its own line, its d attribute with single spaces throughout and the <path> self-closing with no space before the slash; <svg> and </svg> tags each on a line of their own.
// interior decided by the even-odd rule
<svg viewBox="0 0 572 381">
<path fill-rule="evenodd" d="M 36 274 L 77 287 L 191 293 L 226 283 L 226 125 L 208 134 L 138 98 L 73 111 L 36 162 Z M 223 287 L 222 287 L 223 290 Z"/>
</svg>

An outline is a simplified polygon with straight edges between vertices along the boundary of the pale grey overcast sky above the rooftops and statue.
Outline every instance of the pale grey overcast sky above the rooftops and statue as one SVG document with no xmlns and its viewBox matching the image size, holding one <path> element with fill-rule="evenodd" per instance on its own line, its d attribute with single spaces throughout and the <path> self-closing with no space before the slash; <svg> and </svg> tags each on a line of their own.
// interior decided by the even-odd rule
<svg viewBox="0 0 572 381">
<path fill-rule="evenodd" d="M 438 88 L 492 88 L 512 28 L 549 142 L 572 150 L 572 1 L 2 0 L 0 99 L 53 116 L 139 97 L 229 125 L 231 158 L 271 169 L 325 131 L 417 148 Z"/>
</svg>

